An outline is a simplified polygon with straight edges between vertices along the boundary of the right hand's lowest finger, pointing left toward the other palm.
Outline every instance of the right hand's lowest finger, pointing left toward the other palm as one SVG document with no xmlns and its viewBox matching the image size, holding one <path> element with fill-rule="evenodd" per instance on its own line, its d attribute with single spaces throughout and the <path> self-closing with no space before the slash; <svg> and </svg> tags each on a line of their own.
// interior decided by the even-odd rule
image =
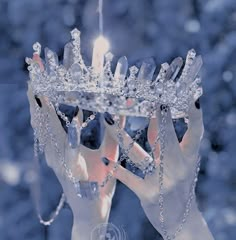
<svg viewBox="0 0 236 240">
<path fill-rule="evenodd" d="M 142 178 L 114 162 L 110 162 L 107 168 L 112 172 L 113 177 L 124 183 L 137 196 L 141 196 L 141 193 L 144 192 L 145 182 Z M 113 171 L 114 168 L 116 169 Z"/>
</svg>

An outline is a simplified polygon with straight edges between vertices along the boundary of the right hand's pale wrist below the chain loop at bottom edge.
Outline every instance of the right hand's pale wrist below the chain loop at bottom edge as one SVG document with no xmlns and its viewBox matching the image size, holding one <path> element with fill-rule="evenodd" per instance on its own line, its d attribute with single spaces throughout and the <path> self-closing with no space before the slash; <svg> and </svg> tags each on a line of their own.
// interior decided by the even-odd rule
<svg viewBox="0 0 236 240">
<path fill-rule="evenodd" d="M 191 209 L 182 231 L 176 236 L 176 240 L 213 240 L 213 236 L 205 219 L 197 206 Z"/>
</svg>

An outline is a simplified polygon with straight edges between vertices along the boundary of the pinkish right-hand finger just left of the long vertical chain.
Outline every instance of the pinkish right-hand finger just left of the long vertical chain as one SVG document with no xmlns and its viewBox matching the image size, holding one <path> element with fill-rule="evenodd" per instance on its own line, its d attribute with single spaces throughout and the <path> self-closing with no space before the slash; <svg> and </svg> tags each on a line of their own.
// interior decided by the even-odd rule
<svg viewBox="0 0 236 240">
<path fill-rule="evenodd" d="M 157 126 L 158 126 L 157 118 L 151 118 L 148 126 L 147 136 L 148 136 L 148 142 L 151 145 L 151 148 L 154 149 L 153 156 L 155 161 L 158 160 L 159 153 L 160 153 L 160 143 L 158 141 L 159 134 L 158 134 Z"/>
</svg>

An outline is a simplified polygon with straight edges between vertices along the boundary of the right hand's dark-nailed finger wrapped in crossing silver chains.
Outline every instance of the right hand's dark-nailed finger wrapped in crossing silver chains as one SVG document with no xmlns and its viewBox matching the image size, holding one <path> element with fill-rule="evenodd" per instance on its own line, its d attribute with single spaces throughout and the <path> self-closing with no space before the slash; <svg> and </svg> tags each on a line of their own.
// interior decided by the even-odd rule
<svg viewBox="0 0 236 240">
<path fill-rule="evenodd" d="M 118 133 L 121 134 L 123 139 L 123 148 L 128 149 L 130 144 L 134 142 L 133 139 L 129 136 L 129 134 L 124 129 L 117 128 L 117 126 L 115 125 L 115 121 L 108 116 L 104 118 L 104 124 L 108 134 L 113 140 L 116 141 L 117 144 L 119 144 L 120 141 Z M 146 165 L 153 160 L 152 157 L 136 142 L 134 142 L 133 146 L 130 148 L 128 152 L 128 157 L 141 170 L 144 170 Z M 144 161 L 144 159 L 147 160 Z"/>
</svg>

